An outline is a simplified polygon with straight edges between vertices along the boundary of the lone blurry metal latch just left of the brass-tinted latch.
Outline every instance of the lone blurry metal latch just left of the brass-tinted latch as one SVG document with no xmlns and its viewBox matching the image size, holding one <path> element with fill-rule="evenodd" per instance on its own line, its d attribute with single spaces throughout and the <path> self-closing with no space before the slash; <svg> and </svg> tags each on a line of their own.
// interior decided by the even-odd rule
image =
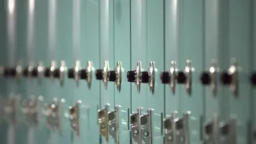
<svg viewBox="0 0 256 144">
<path fill-rule="evenodd" d="M 80 135 L 80 103 L 76 102 L 76 105 L 69 106 L 69 122 L 72 130 L 76 132 L 76 135 Z"/>
</svg>

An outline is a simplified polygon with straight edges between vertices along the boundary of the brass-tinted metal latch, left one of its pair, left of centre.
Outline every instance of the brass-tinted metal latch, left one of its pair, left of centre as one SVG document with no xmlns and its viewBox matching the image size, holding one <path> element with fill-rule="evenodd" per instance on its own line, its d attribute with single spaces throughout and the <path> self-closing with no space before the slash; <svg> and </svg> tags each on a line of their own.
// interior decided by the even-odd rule
<svg viewBox="0 0 256 144">
<path fill-rule="evenodd" d="M 98 110 L 98 124 L 100 134 L 109 142 L 109 105 L 105 105 L 104 109 Z M 112 116 L 113 119 L 114 116 Z"/>
</svg>

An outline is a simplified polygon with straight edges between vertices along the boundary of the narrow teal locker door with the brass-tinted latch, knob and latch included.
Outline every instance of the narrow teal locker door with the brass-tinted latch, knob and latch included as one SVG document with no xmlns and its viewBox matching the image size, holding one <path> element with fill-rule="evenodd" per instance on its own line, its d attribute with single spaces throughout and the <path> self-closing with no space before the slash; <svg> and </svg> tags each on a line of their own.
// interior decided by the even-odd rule
<svg viewBox="0 0 256 144">
<path fill-rule="evenodd" d="M 99 1 L 99 47 L 100 67 L 96 68 L 95 78 L 101 80 L 98 128 L 102 143 L 113 143 L 109 138 L 109 112 L 114 109 L 114 85 L 109 81 L 109 72 L 115 68 L 113 46 L 113 0 Z"/>
</svg>

